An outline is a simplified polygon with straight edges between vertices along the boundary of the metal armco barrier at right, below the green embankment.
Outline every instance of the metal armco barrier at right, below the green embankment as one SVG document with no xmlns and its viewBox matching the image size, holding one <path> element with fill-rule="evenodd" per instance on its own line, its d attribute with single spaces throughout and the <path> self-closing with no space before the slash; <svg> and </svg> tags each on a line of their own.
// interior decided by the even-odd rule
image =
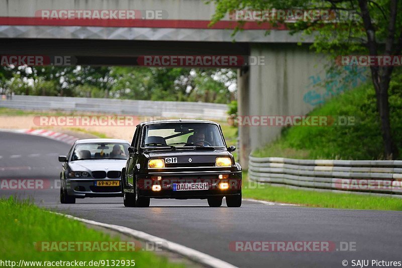
<svg viewBox="0 0 402 268">
<path fill-rule="evenodd" d="M 313 190 L 392 194 L 402 197 L 402 161 L 249 158 L 250 180 Z"/>
</svg>

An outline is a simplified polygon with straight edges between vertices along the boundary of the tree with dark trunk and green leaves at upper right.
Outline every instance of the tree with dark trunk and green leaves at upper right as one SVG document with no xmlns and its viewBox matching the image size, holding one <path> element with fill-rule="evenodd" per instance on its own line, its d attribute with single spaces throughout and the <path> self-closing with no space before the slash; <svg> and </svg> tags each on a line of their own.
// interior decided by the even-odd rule
<svg viewBox="0 0 402 268">
<path fill-rule="evenodd" d="M 307 18 L 287 23 L 281 19 L 270 19 L 264 22 L 273 25 L 284 24 L 291 30 L 291 34 L 303 33 L 314 36 L 312 48 L 317 52 L 328 54 L 332 59 L 339 55 L 357 53 L 370 56 L 400 55 L 402 50 L 402 12 L 398 0 L 214 0 L 214 2 L 217 8 L 212 24 L 236 10 L 331 10 L 337 15 L 335 20 Z M 345 14 L 347 19 L 342 20 L 341 17 Z M 241 30 L 244 23 L 240 21 L 235 32 Z M 392 66 L 370 66 L 381 122 L 384 155 L 387 159 L 395 159 L 398 156 L 389 120 L 388 89 L 393 71 Z"/>
</svg>

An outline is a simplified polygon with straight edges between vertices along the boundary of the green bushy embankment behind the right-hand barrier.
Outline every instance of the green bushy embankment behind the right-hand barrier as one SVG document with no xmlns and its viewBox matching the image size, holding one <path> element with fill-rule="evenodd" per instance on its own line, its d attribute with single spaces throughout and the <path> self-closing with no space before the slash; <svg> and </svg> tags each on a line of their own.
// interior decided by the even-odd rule
<svg viewBox="0 0 402 268">
<path fill-rule="evenodd" d="M 395 75 L 389 88 L 390 121 L 396 146 L 402 150 L 402 75 Z M 375 92 L 371 84 L 330 99 L 309 115 L 352 116 L 354 125 L 291 126 L 282 131 L 281 138 L 256 150 L 259 157 L 288 157 L 299 159 L 383 159 L 383 141 Z M 402 159 L 399 157 L 399 159 Z"/>
</svg>

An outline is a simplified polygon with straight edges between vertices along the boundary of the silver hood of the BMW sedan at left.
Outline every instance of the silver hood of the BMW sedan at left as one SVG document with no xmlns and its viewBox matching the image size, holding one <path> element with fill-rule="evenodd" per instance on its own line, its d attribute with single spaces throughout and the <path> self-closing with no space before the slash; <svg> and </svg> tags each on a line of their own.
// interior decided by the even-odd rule
<svg viewBox="0 0 402 268">
<path fill-rule="evenodd" d="M 126 165 L 125 159 L 78 160 L 68 164 L 72 171 L 122 171 Z"/>
</svg>

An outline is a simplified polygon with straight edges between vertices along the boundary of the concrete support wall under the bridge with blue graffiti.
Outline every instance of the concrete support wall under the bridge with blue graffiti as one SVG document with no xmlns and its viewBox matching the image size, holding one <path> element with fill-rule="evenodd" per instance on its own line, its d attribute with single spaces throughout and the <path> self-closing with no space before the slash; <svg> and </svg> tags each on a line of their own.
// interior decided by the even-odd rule
<svg viewBox="0 0 402 268">
<path fill-rule="evenodd" d="M 295 44 L 252 44 L 250 54 L 265 56 L 265 65 L 250 66 L 249 109 L 240 115 L 304 115 L 314 108 L 304 96 L 311 90 L 312 77 L 325 75 L 325 57 Z M 281 131 L 280 126 L 243 127 L 249 128 L 245 143 L 249 141 L 250 150 L 272 142 Z"/>
</svg>

